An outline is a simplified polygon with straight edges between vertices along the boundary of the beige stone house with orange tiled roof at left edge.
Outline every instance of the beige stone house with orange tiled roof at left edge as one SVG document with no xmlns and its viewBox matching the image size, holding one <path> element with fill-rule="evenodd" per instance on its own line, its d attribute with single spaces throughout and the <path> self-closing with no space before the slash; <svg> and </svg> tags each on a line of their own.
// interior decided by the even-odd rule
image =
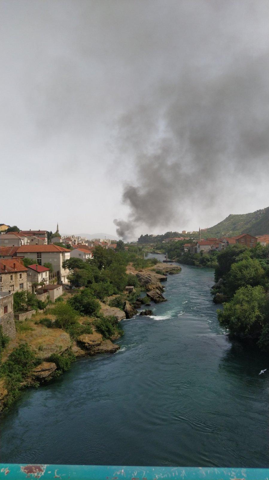
<svg viewBox="0 0 269 480">
<path fill-rule="evenodd" d="M 16 260 L 0 260 L 0 292 L 27 290 L 27 268 Z"/>
</svg>

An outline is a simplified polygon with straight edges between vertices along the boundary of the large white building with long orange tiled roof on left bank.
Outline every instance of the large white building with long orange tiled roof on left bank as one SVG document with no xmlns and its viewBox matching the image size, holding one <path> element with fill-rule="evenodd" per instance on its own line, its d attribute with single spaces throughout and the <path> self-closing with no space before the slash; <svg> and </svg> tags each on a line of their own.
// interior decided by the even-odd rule
<svg viewBox="0 0 269 480">
<path fill-rule="evenodd" d="M 66 283 L 69 270 L 63 268 L 62 264 L 70 258 L 70 250 L 59 247 L 58 245 L 22 245 L 17 250 L 17 257 L 25 257 L 33 259 L 33 264 L 44 265 L 50 263 L 53 266 L 54 276 L 58 281 Z"/>
</svg>

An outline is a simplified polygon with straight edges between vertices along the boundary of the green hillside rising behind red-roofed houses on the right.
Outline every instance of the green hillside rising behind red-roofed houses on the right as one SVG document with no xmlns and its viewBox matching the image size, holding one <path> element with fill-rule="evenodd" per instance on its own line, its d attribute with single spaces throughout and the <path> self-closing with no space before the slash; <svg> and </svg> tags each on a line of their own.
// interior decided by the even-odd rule
<svg viewBox="0 0 269 480">
<path fill-rule="evenodd" d="M 232 237 L 241 233 L 269 234 L 269 207 L 243 215 L 229 215 L 222 222 L 208 228 L 204 237 Z"/>
</svg>

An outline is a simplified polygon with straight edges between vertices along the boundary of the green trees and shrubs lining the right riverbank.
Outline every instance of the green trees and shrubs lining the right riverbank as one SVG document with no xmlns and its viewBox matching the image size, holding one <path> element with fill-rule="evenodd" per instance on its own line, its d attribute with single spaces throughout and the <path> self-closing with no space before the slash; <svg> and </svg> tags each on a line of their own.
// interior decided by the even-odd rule
<svg viewBox="0 0 269 480">
<path fill-rule="evenodd" d="M 184 243 L 157 243 L 153 251 L 167 252 L 182 264 L 215 268 L 212 294 L 215 303 L 223 303 L 217 311 L 220 325 L 269 353 L 269 246 L 235 244 L 202 255 L 183 253 Z"/>
</svg>

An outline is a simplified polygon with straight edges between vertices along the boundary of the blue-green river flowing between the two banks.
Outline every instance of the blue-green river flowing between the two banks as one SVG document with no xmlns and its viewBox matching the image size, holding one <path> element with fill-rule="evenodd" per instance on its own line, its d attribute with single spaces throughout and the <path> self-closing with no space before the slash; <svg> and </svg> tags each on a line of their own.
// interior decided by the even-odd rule
<svg viewBox="0 0 269 480">
<path fill-rule="evenodd" d="M 181 266 L 153 317 L 122 322 L 116 354 L 78 360 L 2 414 L 1 462 L 269 466 L 269 365 L 219 327 L 213 270 Z"/>
</svg>

